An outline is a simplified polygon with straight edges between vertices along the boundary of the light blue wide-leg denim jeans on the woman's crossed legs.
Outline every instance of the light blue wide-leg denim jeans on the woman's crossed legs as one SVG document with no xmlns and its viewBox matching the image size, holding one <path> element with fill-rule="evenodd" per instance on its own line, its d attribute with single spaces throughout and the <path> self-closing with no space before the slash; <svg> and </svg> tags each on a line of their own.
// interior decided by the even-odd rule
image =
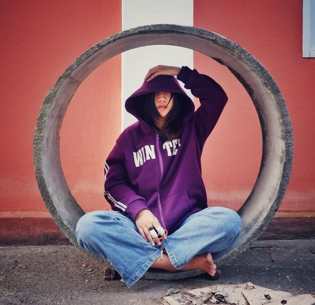
<svg viewBox="0 0 315 305">
<path fill-rule="evenodd" d="M 173 266 L 183 268 L 194 256 L 231 248 L 242 228 L 240 216 L 233 210 L 210 207 L 189 216 L 181 227 L 164 240 Z M 77 223 L 78 244 L 111 261 L 127 287 L 134 285 L 160 251 L 146 242 L 135 223 L 120 212 L 95 211 Z"/>
</svg>

